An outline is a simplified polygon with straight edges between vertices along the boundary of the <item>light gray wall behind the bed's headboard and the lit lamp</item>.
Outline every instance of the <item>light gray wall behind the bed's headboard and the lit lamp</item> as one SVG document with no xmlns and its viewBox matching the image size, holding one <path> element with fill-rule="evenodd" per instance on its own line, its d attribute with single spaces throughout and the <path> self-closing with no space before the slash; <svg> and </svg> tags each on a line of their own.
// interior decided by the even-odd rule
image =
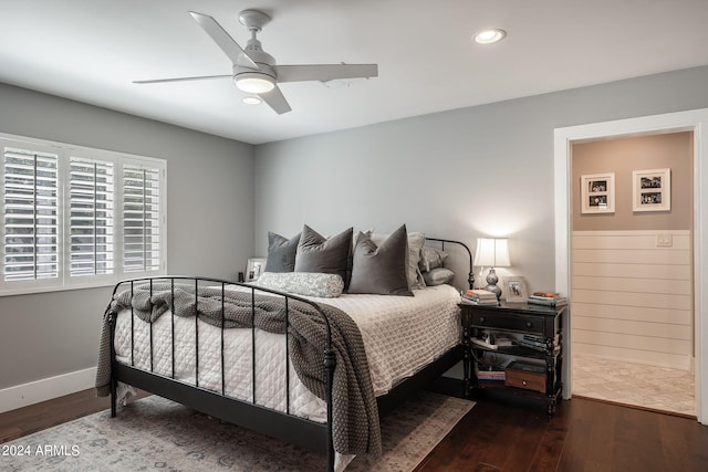
<svg viewBox="0 0 708 472">
<path fill-rule="evenodd" d="M 256 148 L 256 252 L 267 232 L 350 225 L 475 247 L 510 238 L 500 276 L 554 286 L 553 129 L 708 107 L 708 67 L 418 116 Z M 479 281 L 479 277 L 478 277 Z"/>
</svg>

